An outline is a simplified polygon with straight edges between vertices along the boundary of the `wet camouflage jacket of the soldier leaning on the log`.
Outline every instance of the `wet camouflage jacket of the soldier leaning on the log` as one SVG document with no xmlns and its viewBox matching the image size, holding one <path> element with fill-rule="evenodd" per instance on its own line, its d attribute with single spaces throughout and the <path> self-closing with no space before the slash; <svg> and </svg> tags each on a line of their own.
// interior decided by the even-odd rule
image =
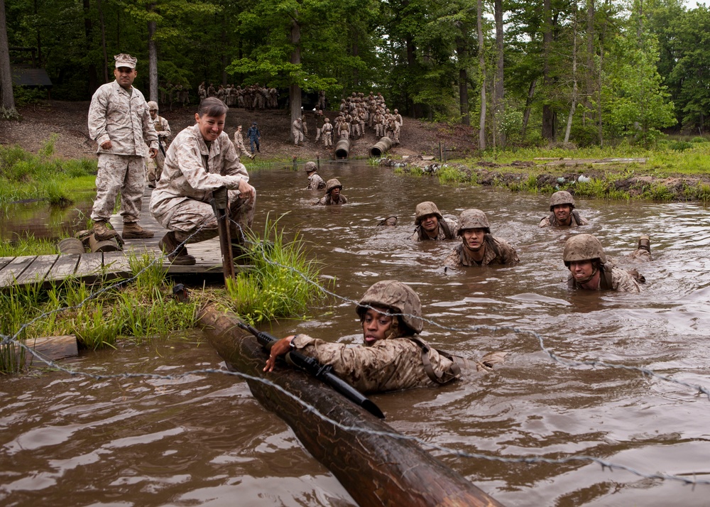
<svg viewBox="0 0 710 507">
<path fill-rule="evenodd" d="M 437 386 L 424 369 L 422 349 L 408 338 L 381 339 L 372 347 L 349 347 L 297 334 L 293 347 L 321 364 L 329 364 L 337 376 L 364 393 Z M 453 361 L 430 347 L 432 369 L 444 373 Z"/>
</svg>

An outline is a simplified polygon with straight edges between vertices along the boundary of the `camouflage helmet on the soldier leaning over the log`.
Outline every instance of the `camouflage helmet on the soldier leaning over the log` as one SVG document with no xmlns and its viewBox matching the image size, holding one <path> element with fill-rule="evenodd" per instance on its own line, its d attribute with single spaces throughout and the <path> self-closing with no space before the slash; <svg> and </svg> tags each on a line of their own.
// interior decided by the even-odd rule
<svg viewBox="0 0 710 507">
<path fill-rule="evenodd" d="M 357 303 L 355 311 L 362 319 L 368 307 L 386 307 L 410 327 L 415 334 L 422 332 L 422 302 L 412 288 L 397 280 L 383 280 L 372 285 L 365 291 Z"/>
</svg>

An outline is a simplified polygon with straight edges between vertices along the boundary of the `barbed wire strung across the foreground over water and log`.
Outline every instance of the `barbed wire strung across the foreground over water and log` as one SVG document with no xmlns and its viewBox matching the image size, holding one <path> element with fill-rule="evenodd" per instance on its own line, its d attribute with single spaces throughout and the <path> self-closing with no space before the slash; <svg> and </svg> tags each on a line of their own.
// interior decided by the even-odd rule
<svg viewBox="0 0 710 507">
<path fill-rule="evenodd" d="M 234 222 L 234 223 L 236 223 L 236 222 Z M 237 224 L 237 225 L 239 226 L 239 224 Z M 239 226 L 239 227 L 241 229 L 241 226 Z M 175 251 L 178 251 L 178 249 L 180 249 L 183 245 L 187 244 L 189 239 L 192 238 L 192 236 L 195 236 L 195 234 L 197 234 L 201 229 L 202 229 L 202 227 L 200 227 L 200 229 L 197 229 L 197 231 L 195 231 L 193 234 L 191 234 L 187 239 L 185 239 L 185 241 L 182 241 L 182 243 L 177 247 L 177 249 Z M 246 239 L 246 242 L 251 243 L 255 246 L 258 246 L 261 243 L 261 242 L 250 241 L 249 239 Z M 175 251 L 173 252 L 173 254 L 175 253 Z M 293 266 L 286 266 L 284 264 L 281 264 L 281 263 L 271 260 L 270 258 L 268 258 L 268 256 L 266 256 L 266 251 L 264 249 L 253 249 L 253 251 L 259 251 L 261 253 L 261 256 L 263 257 L 263 260 L 266 261 L 267 263 L 270 263 L 271 265 L 277 266 L 279 268 L 288 269 L 288 270 L 292 271 L 293 273 L 296 273 L 298 276 L 300 276 L 307 283 L 311 283 L 312 285 L 315 285 L 315 287 L 317 287 L 319 290 L 322 291 L 322 293 L 324 293 L 326 295 L 329 295 L 333 298 L 342 300 L 344 302 L 350 302 L 350 303 L 354 303 L 354 304 L 358 303 L 355 300 L 352 300 L 350 298 L 346 298 L 345 296 L 334 293 L 331 290 L 327 290 L 327 288 L 324 288 L 324 286 L 316 283 L 309 276 L 307 276 L 307 273 L 302 273 L 301 271 L 298 271 L 297 269 L 293 268 Z M 410 442 L 415 442 L 418 445 L 421 445 L 422 447 L 425 447 L 427 449 L 434 449 L 439 452 L 443 452 L 445 454 L 451 454 L 451 455 L 454 455 L 457 457 L 463 457 L 463 458 L 469 458 L 469 459 L 484 459 L 484 460 L 491 461 L 491 462 L 518 463 L 518 464 L 540 464 L 540 463 L 566 464 L 566 463 L 570 463 L 570 462 L 589 462 L 589 463 L 596 463 L 596 464 L 601 465 L 602 470 L 604 470 L 606 468 L 608 468 L 612 471 L 614 469 L 624 470 L 624 471 L 628 471 L 630 474 L 633 474 L 635 476 L 640 476 L 644 479 L 660 479 L 660 480 L 667 480 L 667 481 L 678 481 L 683 484 L 692 484 L 693 486 L 695 486 L 697 484 L 710 485 L 710 480 L 696 479 L 696 476 L 697 476 L 696 472 L 692 473 L 693 479 L 689 479 L 688 477 L 685 477 L 685 476 L 677 476 L 677 475 L 672 475 L 672 474 L 662 474 L 662 473 L 648 474 L 643 471 L 639 471 L 637 469 L 634 469 L 633 467 L 628 467 L 627 465 L 608 462 L 608 461 L 598 458 L 598 457 L 586 456 L 586 455 L 567 456 L 567 457 L 562 457 L 562 458 L 547 458 L 547 457 L 516 457 L 516 458 L 513 458 L 513 457 L 491 456 L 488 454 L 467 452 L 462 449 L 455 449 L 452 447 L 438 445 L 438 444 L 435 444 L 432 442 L 428 442 L 427 440 L 422 440 L 419 437 L 414 437 L 411 435 L 403 435 L 403 434 L 400 434 L 397 432 L 369 430 L 369 429 L 362 428 L 362 427 L 344 425 L 342 423 L 339 423 L 336 420 L 333 420 L 332 418 L 329 418 L 327 415 L 321 413 L 315 406 L 298 398 L 293 393 L 290 393 L 289 391 L 285 390 L 285 388 L 278 386 L 277 384 L 273 383 L 272 381 L 269 381 L 266 378 L 261 378 L 261 377 L 256 377 L 256 376 L 244 374 L 239 371 L 228 371 L 228 370 L 224 370 L 224 369 L 209 368 L 209 369 L 199 369 L 199 370 L 187 371 L 185 373 L 177 374 L 177 375 L 129 373 L 129 372 L 123 372 L 120 374 L 103 375 L 103 374 L 92 374 L 92 373 L 88 373 L 86 371 L 68 369 L 65 366 L 62 366 L 61 364 L 58 364 L 58 362 L 56 362 L 56 361 L 45 358 L 44 356 L 39 354 L 37 351 L 32 349 L 32 347 L 28 347 L 28 345 L 26 345 L 26 343 L 23 343 L 23 341 L 18 339 L 18 336 L 20 336 L 20 334 L 24 331 L 24 329 L 27 329 L 27 327 L 33 325 L 34 322 L 38 322 L 38 320 L 41 320 L 45 317 L 53 315 L 57 312 L 63 312 L 65 310 L 76 310 L 76 309 L 82 307 L 82 305 L 84 305 L 89 300 L 97 298 L 99 295 L 106 293 L 109 290 L 120 287 L 121 285 L 126 285 L 128 283 L 131 283 L 133 280 L 136 280 L 136 278 L 138 278 L 144 271 L 146 271 L 148 268 L 151 268 L 151 266 L 154 266 L 155 263 L 158 263 L 158 262 L 162 262 L 162 258 L 160 258 L 160 256 L 156 256 L 155 258 L 153 258 L 153 261 L 148 263 L 145 267 L 141 268 L 140 271 L 136 272 L 130 278 L 126 278 L 124 280 L 119 280 L 116 283 L 112 283 L 111 285 L 108 285 L 107 287 L 101 288 L 101 289 L 97 290 L 96 292 L 89 294 L 87 296 L 87 298 L 84 298 L 84 300 L 77 303 L 77 305 L 60 307 L 60 308 L 55 308 L 53 310 L 49 310 L 48 312 L 44 312 L 43 314 L 38 315 L 37 317 L 34 317 L 33 319 L 24 323 L 18 329 L 18 331 L 12 335 L 0 334 L 0 337 L 2 338 L 0 340 L 0 346 L 7 345 L 7 344 L 13 344 L 17 347 L 20 347 L 21 349 L 26 351 L 28 354 L 31 354 L 31 356 L 33 356 L 35 359 L 38 359 L 38 361 L 42 362 L 43 364 L 45 364 L 46 366 L 48 366 L 51 369 L 56 369 L 58 371 L 62 371 L 63 373 L 68 374 L 72 377 L 82 376 L 84 378 L 92 378 L 94 380 L 111 380 L 111 379 L 115 379 L 115 378 L 147 378 L 147 379 L 160 379 L 160 380 L 174 381 L 174 380 L 179 380 L 180 378 L 198 375 L 198 374 L 226 374 L 226 375 L 231 375 L 231 376 L 237 376 L 239 378 L 243 378 L 244 380 L 260 382 L 260 383 L 265 384 L 266 386 L 270 386 L 271 388 L 277 389 L 281 393 L 285 394 L 285 396 L 292 398 L 297 403 L 302 405 L 302 407 L 304 408 L 304 410 L 306 412 L 312 413 L 312 414 L 316 415 L 318 418 L 320 418 L 321 420 L 323 420 L 324 422 L 327 422 L 329 424 L 337 426 L 342 430 L 349 431 L 349 432 L 361 432 L 361 433 L 366 433 L 369 435 L 390 437 L 395 440 L 407 440 Z M 369 307 L 368 305 L 364 305 L 364 306 Z M 659 378 L 662 381 L 676 383 L 679 386 L 692 388 L 694 390 L 699 391 L 699 393 L 705 394 L 710 399 L 710 391 L 707 388 L 705 388 L 704 386 L 697 386 L 697 385 L 687 383 L 684 381 L 678 381 L 677 379 L 670 378 L 670 377 L 662 375 L 662 374 L 657 374 L 655 371 L 652 371 L 651 369 L 642 368 L 642 367 L 638 367 L 638 366 L 628 366 L 628 365 L 624 365 L 624 364 L 611 364 L 611 363 L 607 363 L 606 361 L 598 361 L 598 360 L 575 361 L 575 360 L 570 360 L 570 359 L 564 359 L 560 356 L 557 356 L 557 354 L 555 354 L 554 352 L 552 352 L 550 349 L 548 349 L 545 346 L 545 341 L 544 341 L 544 338 L 542 337 L 541 334 L 539 334 L 535 331 L 532 331 L 530 329 L 521 329 L 521 328 L 513 327 L 513 326 L 491 326 L 491 325 L 474 325 L 474 326 L 469 326 L 466 328 L 457 328 L 457 327 L 449 327 L 449 326 L 441 325 L 438 322 L 435 322 L 434 320 L 430 320 L 425 317 L 419 317 L 417 315 L 410 315 L 410 314 L 405 314 L 405 313 L 392 313 L 391 315 L 400 315 L 400 316 L 406 316 L 406 317 L 421 318 L 422 321 L 424 321 L 424 322 L 427 322 L 431 325 L 439 327 L 440 329 L 446 329 L 446 330 L 449 330 L 452 332 L 471 332 L 471 331 L 480 331 L 480 330 L 499 332 L 501 330 L 505 330 L 505 331 L 514 332 L 515 334 L 529 334 L 532 337 L 535 337 L 535 339 L 537 339 L 537 342 L 540 345 L 540 349 L 542 349 L 542 351 L 544 351 L 545 354 L 547 354 L 547 356 L 550 357 L 550 359 L 552 359 L 553 361 L 555 361 L 558 364 L 562 364 L 564 366 L 569 366 L 569 367 L 602 366 L 602 367 L 606 367 L 606 368 L 624 369 L 624 370 L 628 370 L 628 371 L 640 372 L 641 374 L 643 374 L 643 376 Z M 689 474 L 689 475 L 691 475 L 691 474 Z"/>
</svg>

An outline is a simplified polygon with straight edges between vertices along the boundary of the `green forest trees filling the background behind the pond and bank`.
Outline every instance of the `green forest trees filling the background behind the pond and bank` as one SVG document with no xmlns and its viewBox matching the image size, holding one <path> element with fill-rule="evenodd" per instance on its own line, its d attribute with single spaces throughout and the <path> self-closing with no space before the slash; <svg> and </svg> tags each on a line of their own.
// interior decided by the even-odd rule
<svg viewBox="0 0 710 507">
<path fill-rule="evenodd" d="M 477 125 L 481 149 L 649 145 L 710 115 L 710 11 L 679 0 L 0 0 L 0 16 L 4 116 L 32 94 L 11 66 L 87 100 L 118 53 L 149 99 L 260 83 L 294 118 L 321 89 L 330 109 L 382 92 L 406 116 Z"/>
</svg>

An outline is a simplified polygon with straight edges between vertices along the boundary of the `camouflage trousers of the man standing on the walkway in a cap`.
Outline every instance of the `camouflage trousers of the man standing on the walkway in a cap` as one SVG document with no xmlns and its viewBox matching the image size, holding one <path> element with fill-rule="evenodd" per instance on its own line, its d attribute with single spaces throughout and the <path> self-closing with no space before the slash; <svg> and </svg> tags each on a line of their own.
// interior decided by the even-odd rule
<svg viewBox="0 0 710 507">
<path fill-rule="evenodd" d="M 121 192 L 121 216 L 125 222 L 138 222 L 146 189 L 146 160 L 130 155 L 99 153 L 96 200 L 91 212 L 94 222 L 108 222 L 114 213 L 116 196 Z"/>
</svg>

